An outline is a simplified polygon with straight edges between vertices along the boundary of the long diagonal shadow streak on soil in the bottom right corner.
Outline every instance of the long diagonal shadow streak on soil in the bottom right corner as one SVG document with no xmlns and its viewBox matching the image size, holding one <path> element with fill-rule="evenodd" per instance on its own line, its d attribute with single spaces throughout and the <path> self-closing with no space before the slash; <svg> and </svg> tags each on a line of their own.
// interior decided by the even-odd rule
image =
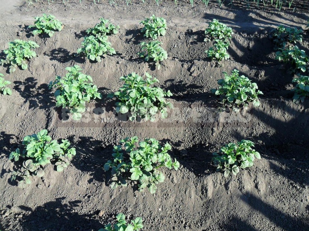
<svg viewBox="0 0 309 231">
<path fill-rule="evenodd" d="M 309 220 L 299 219 L 297 217 L 292 217 L 289 214 L 281 212 L 280 210 L 274 208 L 273 206 L 265 203 L 260 198 L 255 195 L 250 195 L 247 197 L 245 195 L 241 196 L 241 200 L 248 204 L 254 211 L 257 211 L 267 217 L 275 225 L 279 226 L 281 229 L 293 231 L 293 230 L 309 230 Z"/>
</svg>

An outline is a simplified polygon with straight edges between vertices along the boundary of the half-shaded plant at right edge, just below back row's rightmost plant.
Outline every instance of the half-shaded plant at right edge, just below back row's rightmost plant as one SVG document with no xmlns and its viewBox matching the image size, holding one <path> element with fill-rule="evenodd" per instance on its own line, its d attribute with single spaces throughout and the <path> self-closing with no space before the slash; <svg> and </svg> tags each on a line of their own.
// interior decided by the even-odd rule
<svg viewBox="0 0 309 231">
<path fill-rule="evenodd" d="M 277 51 L 275 59 L 283 61 L 285 63 L 290 62 L 293 66 L 293 68 L 291 69 L 292 73 L 297 72 L 299 69 L 302 72 L 306 72 L 309 70 L 309 57 L 304 50 L 300 50 L 297 46 Z"/>
</svg>

